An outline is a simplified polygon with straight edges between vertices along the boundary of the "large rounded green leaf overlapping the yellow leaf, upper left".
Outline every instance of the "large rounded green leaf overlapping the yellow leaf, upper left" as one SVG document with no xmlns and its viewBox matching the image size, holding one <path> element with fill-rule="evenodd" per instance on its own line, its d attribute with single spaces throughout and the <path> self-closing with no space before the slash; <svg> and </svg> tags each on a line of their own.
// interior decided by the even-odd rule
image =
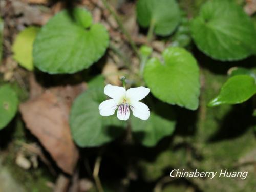
<svg viewBox="0 0 256 192">
<path fill-rule="evenodd" d="M 102 24 L 92 24 L 91 14 L 74 8 L 56 14 L 41 28 L 34 48 L 34 64 L 50 74 L 75 73 L 90 67 L 105 53 L 109 34 Z"/>
</svg>

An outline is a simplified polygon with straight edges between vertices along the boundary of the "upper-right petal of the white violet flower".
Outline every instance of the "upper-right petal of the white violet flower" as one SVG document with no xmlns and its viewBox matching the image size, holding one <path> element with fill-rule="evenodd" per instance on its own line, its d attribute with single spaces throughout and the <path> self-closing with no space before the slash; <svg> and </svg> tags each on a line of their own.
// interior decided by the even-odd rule
<svg viewBox="0 0 256 192">
<path fill-rule="evenodd" d="M 130 99 L 131 102 L 139 101 L 150 93 L 150 89 L 140 86 L 138 88 L 130 88 L 126 92 L 126 98 Z"/>
</svg>

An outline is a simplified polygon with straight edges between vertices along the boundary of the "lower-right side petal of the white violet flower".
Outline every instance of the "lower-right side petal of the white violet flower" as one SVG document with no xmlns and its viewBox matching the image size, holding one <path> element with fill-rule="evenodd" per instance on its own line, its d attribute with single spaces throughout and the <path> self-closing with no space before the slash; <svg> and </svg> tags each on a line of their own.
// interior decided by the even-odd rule
<svg viewBox="0 0 256 192">
<path fill-rule="evenodd" d="M 141 120 L 147 120 L 150 117 L 150 109 L 142 102 L 135 101 L 130 105 L 133 115 Z"/>
</svg>

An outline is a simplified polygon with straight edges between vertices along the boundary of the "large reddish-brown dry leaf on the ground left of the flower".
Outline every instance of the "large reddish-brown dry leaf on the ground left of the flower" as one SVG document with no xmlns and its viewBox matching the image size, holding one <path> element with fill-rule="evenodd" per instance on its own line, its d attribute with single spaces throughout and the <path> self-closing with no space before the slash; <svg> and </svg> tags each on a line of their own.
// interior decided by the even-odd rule
<svg viewBox="0 0 256 192">
<path fill-rule="evenodd" d="M 19 109 L 28 129 L 51 154 L 57 165 L 72 174 L 78 159 L 69 127 L 69 111 L 85 84 L 55 87 L 20 104 Z"/>
</svg>

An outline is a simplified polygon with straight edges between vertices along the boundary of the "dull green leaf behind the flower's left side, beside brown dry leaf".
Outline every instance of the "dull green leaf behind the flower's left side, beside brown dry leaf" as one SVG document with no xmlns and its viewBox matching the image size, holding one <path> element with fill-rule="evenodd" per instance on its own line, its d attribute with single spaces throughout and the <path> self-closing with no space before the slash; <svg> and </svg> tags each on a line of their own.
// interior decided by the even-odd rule
<svg viewBox="0 0 256 192">
<path fill-rule="evenodd" d="M 80 147 L 101 146 L 112 141 L 124 131 L 125 122 L 116 115 L 103 117 L 99 104 L 108 99 L 103 93 L 104 81 L 94 79 L 89 89 L 79 95 L 73 103 L 70 127 L 74 141 Z"/>
</svg>

